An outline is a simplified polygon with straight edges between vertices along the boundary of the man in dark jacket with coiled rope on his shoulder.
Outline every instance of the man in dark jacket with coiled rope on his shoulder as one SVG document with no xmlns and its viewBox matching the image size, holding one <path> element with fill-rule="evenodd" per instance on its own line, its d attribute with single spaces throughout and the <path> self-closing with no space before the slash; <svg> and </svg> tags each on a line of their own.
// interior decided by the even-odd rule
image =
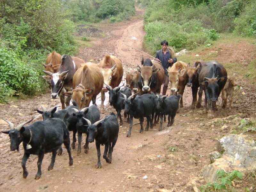
<svg viewBox="0 0 256 192">
<path fill-rule="evenodd" d="M 172 67 L 172 64 L 177 62 L 177 58 L 172 58 L 169 49 L 167 48 L 168 42 L 166 40 L 161 42 L 161 47 L 159 51 L 156 52 L 156 61 L 159 61 L 163 68 L 164 68 L 164 87 L 162 95 L 166 94 L 168 83 L 169 83 L 169 76 L 167 69 Z"/>
</svg>

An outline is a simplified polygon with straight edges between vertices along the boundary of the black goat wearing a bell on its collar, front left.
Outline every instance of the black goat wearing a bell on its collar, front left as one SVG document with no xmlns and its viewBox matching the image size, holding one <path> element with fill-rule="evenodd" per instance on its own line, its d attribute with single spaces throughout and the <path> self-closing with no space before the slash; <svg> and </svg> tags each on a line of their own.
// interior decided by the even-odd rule
<svg viewBox="0 0 256 192">
<path fill-rule="evenodd" d="M 3 133 L 9 134 L 11 139 L 11 150 L 19 150 L 19 145 L 23 142 L 24 155 L 22 157 L 21 166 L 23 168 L 23 178 L 26 179 L 28 172 L 26 169 L 26 162 L 30 154 L 38 155 L 37 168 L 35 179 L 41 177 L 41 164 L 45 153 L 52 152 L 52 161 L 48 167 L 48 170 L 52 170 L 57 154 L 57 149 L 64 143 L 68 150 L 69 165 L 73 165 L 73 159 L 70 152 L 70 139 L 69 132 L 66 124 L 59 118 L 52 118 L 46 121 L 36 121 L 28 126 L 25 124 L 31 122 L 31 120 L 18 125 L 14 129 L 14 125 L 5 120 L 11 127 L 10 131 L 4 131 Z"/>
</svg>

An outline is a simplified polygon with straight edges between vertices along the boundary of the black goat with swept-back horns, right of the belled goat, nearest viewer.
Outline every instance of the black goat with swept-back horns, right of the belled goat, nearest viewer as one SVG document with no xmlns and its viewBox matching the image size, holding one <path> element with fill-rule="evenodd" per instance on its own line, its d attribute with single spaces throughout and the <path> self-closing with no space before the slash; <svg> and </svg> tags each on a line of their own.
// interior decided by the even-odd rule
<svg viewBox="0 0 256 192">
<path fill-rule="evenodd" d="M 85 118 L 84 118 L 85 119 Z M 83 125 L 89 132 L 89 142 L 92 143 L 95 139 L 95 144 L 98 154 L 97 168 L 101 167 L 100 163 L 100 144 L 105 145 L 103 158 L 106 159 L 107 163 L 112 163 L 112 152 L 116 145 L 119 125 L 117 117 L 114 113 L 106 116 L 104 119 L 91 124 L 88 119 L 85 119 L 88 125 Z"/>
</svg>

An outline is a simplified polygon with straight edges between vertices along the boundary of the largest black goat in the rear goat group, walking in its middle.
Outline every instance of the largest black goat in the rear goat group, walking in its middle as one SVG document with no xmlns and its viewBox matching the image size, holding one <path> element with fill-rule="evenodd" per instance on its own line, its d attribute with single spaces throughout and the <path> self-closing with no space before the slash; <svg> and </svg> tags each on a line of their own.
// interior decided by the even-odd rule
<svg viewBox="0 0 256 192">
<path fill-rule="evenodd" d="M 145 128 L 145 131 L 148 131 L 149 122 L 150 128 L 153 128 L 153 117 L 156 108 L 154 96 L 147 93 L 141 96 L 133 97 L 136 94 L 138 94 L 138 92 L 131 95 L 128 99 L 126 99 L 126 95 L 124 95 L 124 112 L 130 115 L 130 129 L 126 137 L 131 136 L 133 117 L 136 119 L 140 118 L 140 133 L 143 133 L 144 131 L 143 117 L 147 117 L 147 126 Z"/>
</svg>

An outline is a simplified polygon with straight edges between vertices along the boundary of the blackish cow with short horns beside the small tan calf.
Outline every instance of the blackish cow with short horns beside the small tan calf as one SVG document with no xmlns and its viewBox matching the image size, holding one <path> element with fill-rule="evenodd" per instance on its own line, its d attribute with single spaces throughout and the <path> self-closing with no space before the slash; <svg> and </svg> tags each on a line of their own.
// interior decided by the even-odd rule
<svg viewBox="0 0 256 192">
<path fill-rule="evenodd" d="M 213 111 L 216 106 L 216 101 L 220 96 L 220 92 L 227 82 L 227 71 L 222 64 L 216 61 L 205 63 L 205 67 L 199 74 L 199 84 L 205 94 L 204 112 L 207 111 L 208 104 L 208 117 L 214 117 Z M 198 102 L 201 102 L 203 91 L 198 92 Z M 201 103 L 199 103 L 201 105 Z"/>
</svg>

